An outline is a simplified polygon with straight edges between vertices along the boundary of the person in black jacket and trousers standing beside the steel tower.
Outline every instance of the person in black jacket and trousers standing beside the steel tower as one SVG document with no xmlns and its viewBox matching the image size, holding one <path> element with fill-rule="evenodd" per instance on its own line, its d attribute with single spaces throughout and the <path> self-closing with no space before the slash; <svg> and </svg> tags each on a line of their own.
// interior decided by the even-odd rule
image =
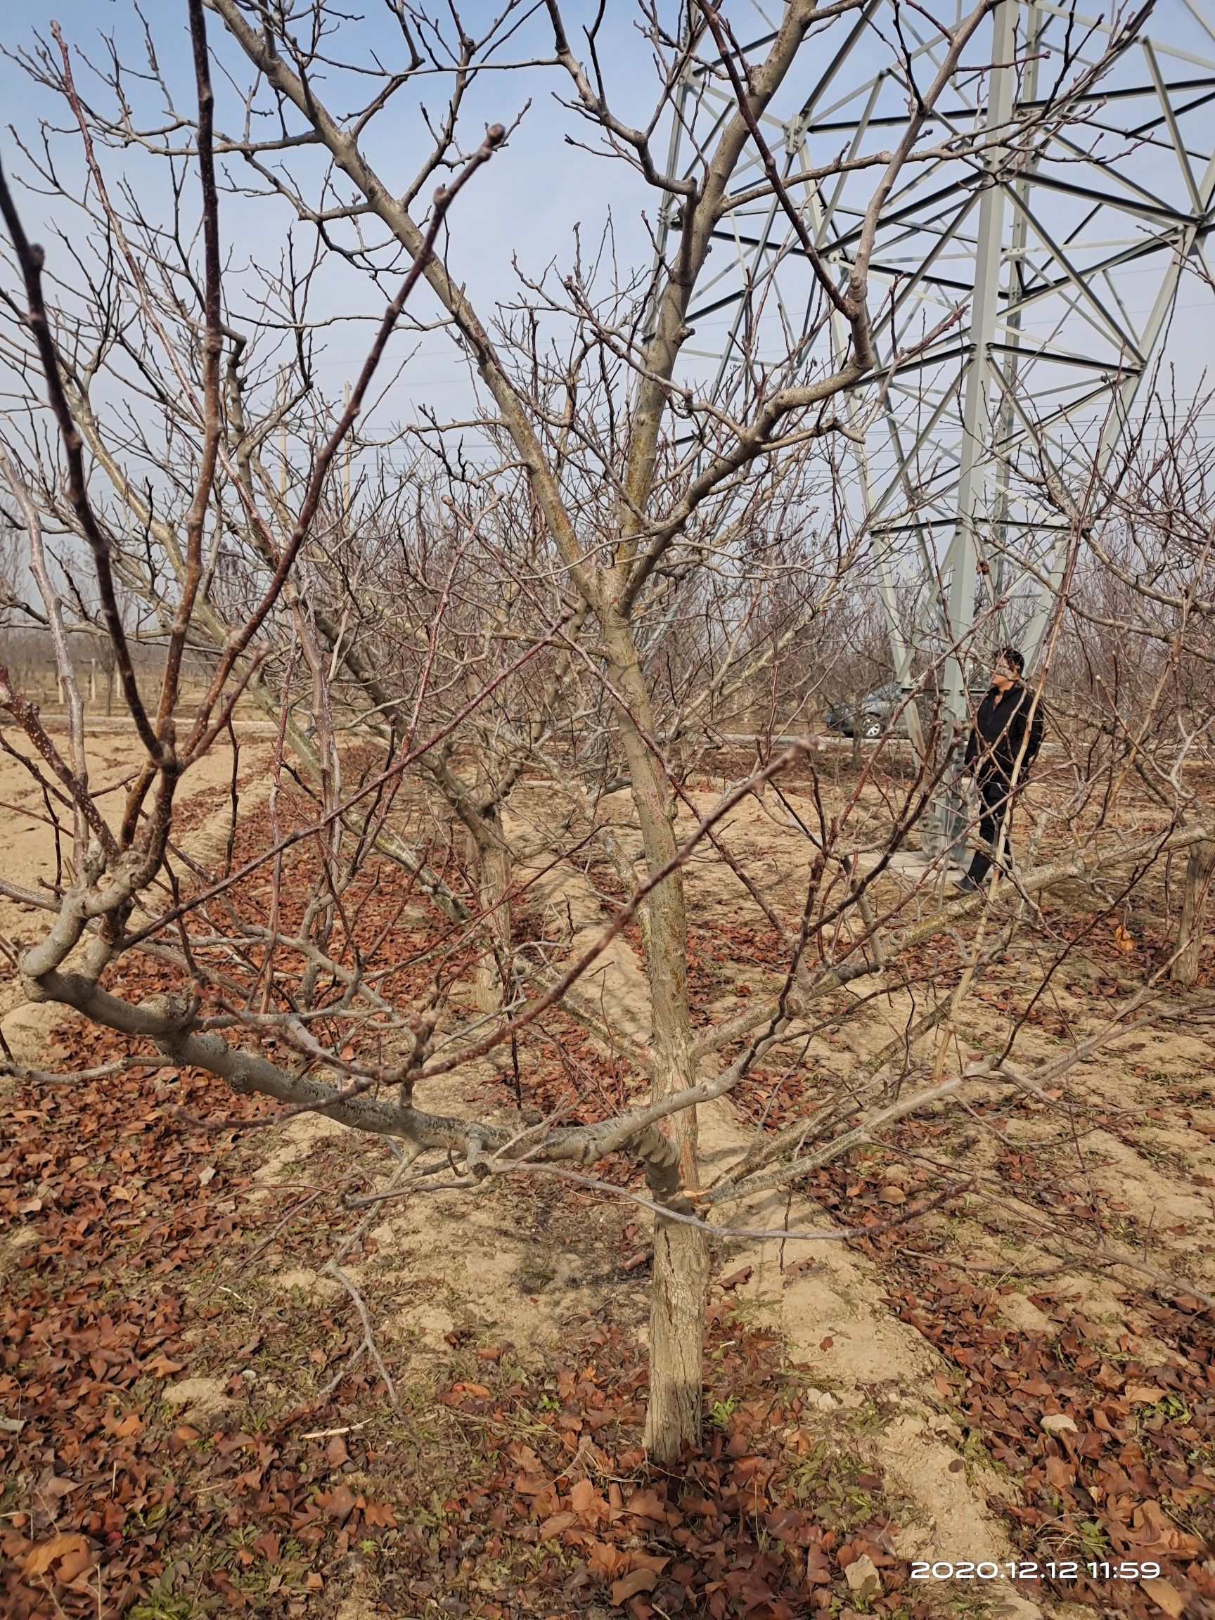
<svg viewBox="0 0 1215 1620">
<path fill-rule="evenodd" d="M 969 894 L 977 889 L 991 870 L 995 850 L 1004 829 L 1004 862 L 1011 860 L 1008 820 L 1013 795 L 1029 774 L 1029 768 L 1042 747 L 1042 700 L 1021 679 L 1025 659 L 1016 646 L 1001 648 L 993 667 L 991 685 L 978 705 L 970 740 L 966 745 L 966 768 L 974 773 L 983 813 L 978 836 L 987 847 L 977 849 L 970 870 L 957 880 L 957 888 Z M 1013 774 L 1016 771 L 1016 786 Z"/>
</svg>

